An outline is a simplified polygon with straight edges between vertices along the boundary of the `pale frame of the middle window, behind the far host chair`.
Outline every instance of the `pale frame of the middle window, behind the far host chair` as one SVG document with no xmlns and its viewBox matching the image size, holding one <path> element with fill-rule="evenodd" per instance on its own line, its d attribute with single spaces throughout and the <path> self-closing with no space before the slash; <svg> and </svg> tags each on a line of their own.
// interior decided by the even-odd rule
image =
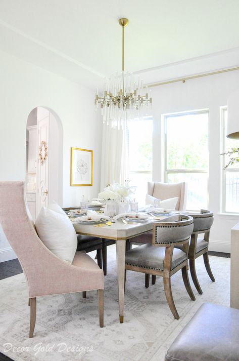
<svg viewBox="0 0 239 361">
<path fill-rule="evenodd" d="M 207 176 L 207 208 L 209 205 L 209 155 L 208 155 L 208 169 L 202 170 L 202 169 L 168 169 L 168 148 L 167 148 L 167 118 L 169 117 L 175 117 L 175 116 L 183 116 L 183 115 L 194 115 L 194 114 L 208 114 L 208 137 L 209 137 L 209 109 L 199 109 L 199 110 L 189 110 L 189 111 L 183 111 L 183 112 L 175 112 L 175 113 L 168 113 L 163 114 L 163 134 L 164 134 L 164 140 L 163 140 L 163 153 L 164 153 L 164 159 L 163 159 L 163 174 L 164 174 L 164 182 L 168 183 L 168 174 L 178 174 L 178 173 L 206 173 Z M 209 138 L 208 138 L 209 139 Z M 208 141 L 208 154 L 209 154 L 209 141 Z M 188 211 L 198 211 L 198 210 L 188 210 Z"/>
</svg>

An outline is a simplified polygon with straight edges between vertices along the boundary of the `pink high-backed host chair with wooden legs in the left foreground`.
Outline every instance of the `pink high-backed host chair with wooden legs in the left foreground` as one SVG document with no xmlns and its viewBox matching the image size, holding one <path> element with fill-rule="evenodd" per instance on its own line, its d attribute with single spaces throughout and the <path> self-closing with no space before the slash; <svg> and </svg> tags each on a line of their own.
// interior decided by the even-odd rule
<svg viewBox="0 0 239 361">
<path fill-rule="evenodd" d="M 0 182 L 0 222 L 16 253 L 29 290 L 30 332 L 36 320 L 36 297 L 97 290 L 100 326 L 104 326 L 103 270 L 85 253 L 69 264 L 47 249 L 38 237 L 25 202 L 24 182 Z"/>
</svg>

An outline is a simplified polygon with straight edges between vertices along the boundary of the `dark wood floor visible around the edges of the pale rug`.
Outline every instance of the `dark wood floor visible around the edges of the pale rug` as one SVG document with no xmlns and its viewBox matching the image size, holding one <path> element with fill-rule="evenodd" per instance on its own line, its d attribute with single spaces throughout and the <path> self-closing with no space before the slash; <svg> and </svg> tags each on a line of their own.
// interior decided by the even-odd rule
<svg viewBox="0 0 239 361">
<path fill-rule="evenodd" d="M 209 255 L 230 258 L 230 253 L 209 251 Z M 15 276 L 16 274 L 19 274 L 19 273 L 22 273 L 22 267 L 21 267 L 18 259 L 13 259 L 11 261 L 0 263 L 0 279 Z M 7 357 L 3 353 L 0 352 L 0 361 L 11 361 L 11 360 L 12 360 L 12 358 Z"/>
</svg>

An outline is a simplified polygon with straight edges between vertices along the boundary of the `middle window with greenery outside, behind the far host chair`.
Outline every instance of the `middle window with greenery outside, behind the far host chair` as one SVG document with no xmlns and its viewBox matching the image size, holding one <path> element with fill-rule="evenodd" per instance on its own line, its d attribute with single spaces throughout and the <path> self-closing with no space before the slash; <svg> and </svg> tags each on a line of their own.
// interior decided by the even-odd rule
<svg viewBox="0 0 239 361">
<path fill-rule="evenodd" d="M 164 116 L 165 182 L 187 182 L 187 210 L 208 204 L 207 110 Z"/>
</svg>

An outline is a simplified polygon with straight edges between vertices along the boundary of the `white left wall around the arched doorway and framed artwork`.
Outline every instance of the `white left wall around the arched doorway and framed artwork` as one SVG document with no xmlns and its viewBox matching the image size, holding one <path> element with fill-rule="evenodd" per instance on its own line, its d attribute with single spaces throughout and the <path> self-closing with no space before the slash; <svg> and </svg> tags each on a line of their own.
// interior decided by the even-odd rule
<svg viewBox="0 0 239 361">
<path fill-rule="evenodd" d="M 63 206 L 78 205 L 82 193 L 97 196 L 102 121 L 94 112 L 93 91 L 3 52 L 0 69 L 0 181 L 25 180 L 27 117 L 35 107 L 45 106 L 57 113 L 63 126 Z M 70 186 L 71 147 L 93 150 L 92 187 Z M 13 257 L 8 247 L 0 230 L 0 261 Z"/>
</svg>

